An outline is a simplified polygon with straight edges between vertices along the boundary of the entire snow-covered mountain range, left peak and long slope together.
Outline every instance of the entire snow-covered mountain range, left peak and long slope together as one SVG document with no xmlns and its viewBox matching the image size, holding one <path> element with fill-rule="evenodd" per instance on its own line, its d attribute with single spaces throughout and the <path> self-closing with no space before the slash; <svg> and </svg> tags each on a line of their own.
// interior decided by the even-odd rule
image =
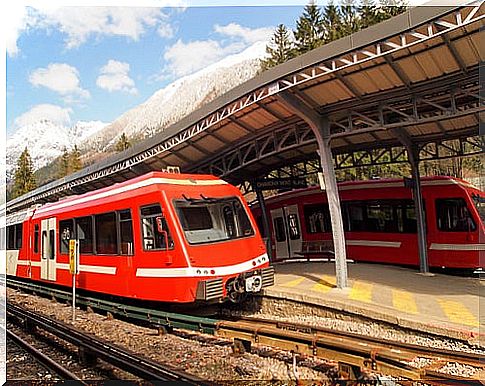
<svg viewBox="0 0 485 386">
<path fill-rule="evenodd" d="M 70 150 L 76 144 L 83 154 L 83 160 L 94 162 L 105 156 L 101 152 L 113 151 L 122 133 L 130 139 L 143 139 L 163 131 L 192 111 L 254 77 L 260 69 L 260 59 L 265 56 L 265 48 L 263 41 L 254 43 L 238 54 L 177 79 L 110 124 L 78 122 L 72 127 L 65 127 L 43 119 L 21 126 L 7 139 L 8 179 L 25 147 L 29 150 L 34 168 L 38 169 L 60 156 L 64 147 Z"/>
</svg>

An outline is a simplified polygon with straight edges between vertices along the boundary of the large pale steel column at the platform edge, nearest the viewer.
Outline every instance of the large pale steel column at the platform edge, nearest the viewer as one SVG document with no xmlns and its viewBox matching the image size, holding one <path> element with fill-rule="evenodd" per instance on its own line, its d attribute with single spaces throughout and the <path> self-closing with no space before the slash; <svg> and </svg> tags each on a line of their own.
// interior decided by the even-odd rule
<svg viewBox="0 0 485 386">
<path fill-rule="evenodd" d="M 320 163 L 325 180 L 325 192 L 327 194 L 330 220 L 332 222 L 332 236 L 335 251 L 335 274 L 337 288 L 346 288 L 347 280 L 347 255 L 345 248 L 345 233 L 342 221 L 340 198 L 338 194 L 337 179 L 333 167 L 332 151 L 330 148 L 330 122 L 328 117 L 318 114 L 314 109 L 304 104 L 301 100 L 288 92 L 278 94 L 278 99 L 283 102 L 293 113 L 304 119 L 315 134 L 320 153 Z"/>
</svg>

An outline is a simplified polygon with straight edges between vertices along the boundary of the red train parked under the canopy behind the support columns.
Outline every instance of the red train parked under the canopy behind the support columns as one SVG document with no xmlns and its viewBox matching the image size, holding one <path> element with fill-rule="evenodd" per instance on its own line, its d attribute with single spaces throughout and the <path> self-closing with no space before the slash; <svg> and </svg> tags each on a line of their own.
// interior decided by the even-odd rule
<svg viewBox="0 0 485 386">
<path fill-rule="evenodd" d="M 403 180 L 339 184 L 347 257 L 355 261 L 419 266 L 414 201 Z M 431 267 L 484 266 L 485 195 L 466 181 L 423 178 L 428 260 Z M 266 200 L 276 259 L 329 257 L 330 214 L 319 187 Z M 253 208 L 260 229 L 261 210 Z"/>
</svg>

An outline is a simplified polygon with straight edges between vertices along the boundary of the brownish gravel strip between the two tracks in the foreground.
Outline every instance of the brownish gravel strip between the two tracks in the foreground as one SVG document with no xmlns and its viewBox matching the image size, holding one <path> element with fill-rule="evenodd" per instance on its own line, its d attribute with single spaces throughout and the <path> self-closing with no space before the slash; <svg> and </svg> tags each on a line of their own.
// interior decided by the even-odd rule
<svg viewBox="0 0 485 386">
<path fill-rule="evenodd" d="M 8 301 L 41 312 L 65 323 L 71 323 L 71 308 L 62 303 L 21 294 L 8 289 Z M 157 331 L 96 313 L 77 310 L 75 327 L 139 353 L 160 363 L 175 365 L 181 370 L 210 381 L 277 381 L 296 384 L 297 380 L 327 380 L 325 372 L 287 363 L 284 359 L 261 357 L 255 353 L 235 354 L 229 344 L 217 345 L 195 341 Z M 315 361 L 318 367 L 320 362 Z M 274 383 L 272 383 L 274 384 Z"/>
</svg>

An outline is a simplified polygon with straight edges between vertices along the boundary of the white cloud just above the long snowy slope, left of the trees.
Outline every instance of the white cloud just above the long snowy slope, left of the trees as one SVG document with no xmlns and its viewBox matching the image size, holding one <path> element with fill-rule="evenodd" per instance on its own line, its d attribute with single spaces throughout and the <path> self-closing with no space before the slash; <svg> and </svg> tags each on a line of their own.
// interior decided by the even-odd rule
<svg viewBox="0 0 485 386">
<path fill-rule="evenodd" d="M 163 55 L 166 65 L 159 79 L 192 74 L 258 41 L 269 41 L 273 34 L 273 28 L 250 29 L 236 23 L 215 25 L 214 31 L 228 39 L 195 40 L 188 43 L 179 39 L 167 48 Z"/>
</svg>

